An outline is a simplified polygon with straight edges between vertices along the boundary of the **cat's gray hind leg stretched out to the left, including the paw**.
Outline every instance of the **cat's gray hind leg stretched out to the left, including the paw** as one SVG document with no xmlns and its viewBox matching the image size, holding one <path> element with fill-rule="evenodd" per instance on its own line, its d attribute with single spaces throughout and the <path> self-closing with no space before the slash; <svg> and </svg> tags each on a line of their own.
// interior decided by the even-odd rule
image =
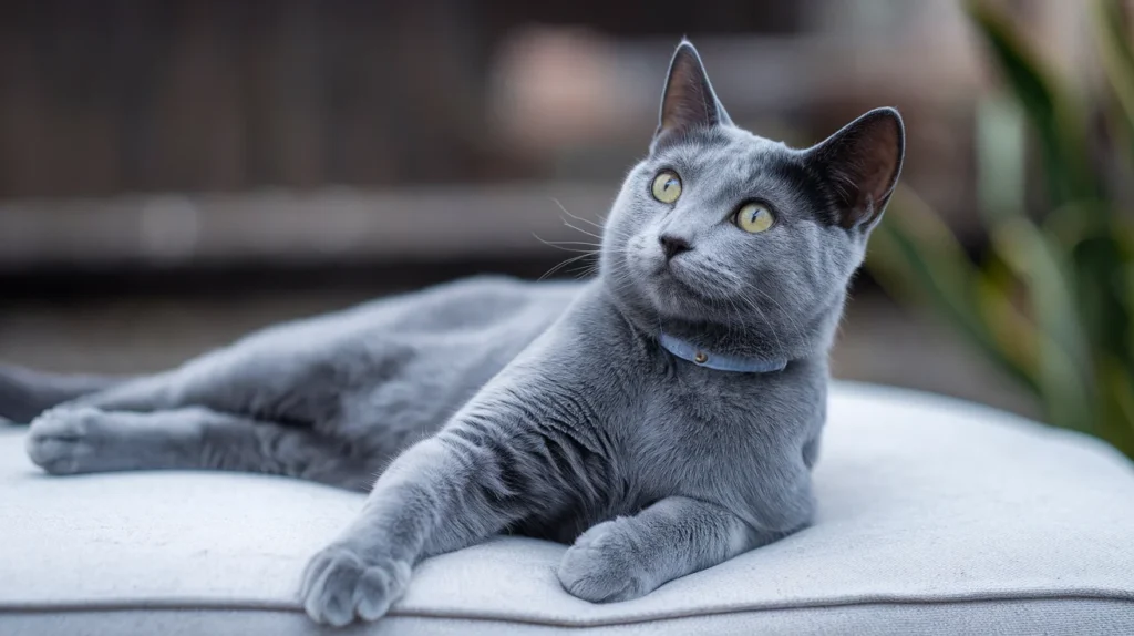
<svg viewBox="0 0 1134 636">
<path fill-rule="evenodd" d="M 150 413 L 67 406 L 32 423 L 27 453 L 52 474 L 214 469 L 367 491 L 384 458 L 321 435 L 202 407 Z"/>
</svg>

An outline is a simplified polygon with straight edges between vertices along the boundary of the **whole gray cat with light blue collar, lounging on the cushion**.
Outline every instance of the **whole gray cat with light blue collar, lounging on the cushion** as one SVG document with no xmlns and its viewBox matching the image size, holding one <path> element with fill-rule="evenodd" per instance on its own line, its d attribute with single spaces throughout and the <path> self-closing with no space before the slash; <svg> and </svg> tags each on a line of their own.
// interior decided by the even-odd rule
<svg viewBox="0 0 1134 636">
<path fill-rule="evenodd" d="M 595 280 L 450 283 L 107 387 L 7 368 L 0 415 L 81 396 L 32 423 L 50 473 L 369 490 L 304 574 L 320 622 L 380 618 L 415 563 L 500 532 L 570 543 L 570 594 L 634 599 L 810 521 L 828 350 L 903 152 L 890 109 L 810 150 L 742 130 L 683 42 Z"/>
</svg>

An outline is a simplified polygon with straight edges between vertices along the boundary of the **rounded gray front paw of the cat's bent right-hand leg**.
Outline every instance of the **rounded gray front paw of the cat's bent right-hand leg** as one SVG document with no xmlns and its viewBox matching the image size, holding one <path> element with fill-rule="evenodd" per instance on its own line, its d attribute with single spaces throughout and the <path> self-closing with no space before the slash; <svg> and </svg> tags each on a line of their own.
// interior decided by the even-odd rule
<svg viewBox="0 0 1134 636">
<path fill-rule="evenodd" d="M 592 603 L 637 599 L 651 585 L 634 550 L 628 519 L 603 521 L 575 541 L 559 562 L 559 583 L 572 596 Z"/>
</svg>

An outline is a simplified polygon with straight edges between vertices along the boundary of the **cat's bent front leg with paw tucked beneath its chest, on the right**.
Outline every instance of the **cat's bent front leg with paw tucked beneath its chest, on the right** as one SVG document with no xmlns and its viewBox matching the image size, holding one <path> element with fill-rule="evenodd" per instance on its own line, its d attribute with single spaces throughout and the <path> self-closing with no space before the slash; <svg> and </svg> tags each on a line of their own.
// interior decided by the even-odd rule
<svg viewBox="0 0 1134 636">
<path fill-rule="evenodd" d="M 759 531 L 718 504 L 668 497 L 579 535 L 559 563 L 559 582 L 585 601 L 626 601 L 790 532 Z"/>
</svg>

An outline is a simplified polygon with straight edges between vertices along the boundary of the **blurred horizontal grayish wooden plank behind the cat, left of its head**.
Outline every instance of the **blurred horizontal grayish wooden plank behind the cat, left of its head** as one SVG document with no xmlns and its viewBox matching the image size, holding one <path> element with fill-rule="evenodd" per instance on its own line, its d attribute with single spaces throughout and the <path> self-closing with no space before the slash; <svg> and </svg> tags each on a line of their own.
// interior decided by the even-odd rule
<svg viewBox="0 0 1134 636">
<path fill-rule="evenodd" d="M 594 241 L 565 220 L 598 229 L 564 210 L 598 222 L 616 193 L 616 185 L 553 184 L 7 201 L 0 268 L 531 255 L 551 249 L 540 238 Z"/>
</svg>

